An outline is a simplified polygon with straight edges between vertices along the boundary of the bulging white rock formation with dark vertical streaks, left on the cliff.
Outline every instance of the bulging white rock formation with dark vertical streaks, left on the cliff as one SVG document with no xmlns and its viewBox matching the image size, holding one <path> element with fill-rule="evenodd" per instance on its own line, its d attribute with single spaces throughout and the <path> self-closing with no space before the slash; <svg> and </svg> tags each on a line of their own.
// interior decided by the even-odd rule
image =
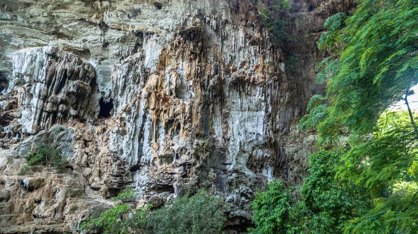
<svg viewBox="0 0 418 234">
<path fill-rule="evenodd" d="M 13 73 L 20 92 L 22 133 L 36 134 L 84 115 L 95 72 L 75 54 L 56 47 L 22 49 L 13 57 Z"/>
</svg>

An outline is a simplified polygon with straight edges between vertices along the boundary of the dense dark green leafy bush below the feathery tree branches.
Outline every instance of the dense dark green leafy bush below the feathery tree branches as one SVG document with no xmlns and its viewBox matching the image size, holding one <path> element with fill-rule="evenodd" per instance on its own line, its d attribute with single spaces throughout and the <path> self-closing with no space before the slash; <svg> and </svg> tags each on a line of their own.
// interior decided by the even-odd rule
<svg viewBox="0 0 418 234">
<path fill-rule="evenodd" d="M 306 209 L 300 214 L 309 233 L 341 233 L 348 221 L 371 208 L 366 189 L 335 178 L 344 151 L 318 150 L 309 156 L 309 176 L 300 189 Z"/>
</svg>

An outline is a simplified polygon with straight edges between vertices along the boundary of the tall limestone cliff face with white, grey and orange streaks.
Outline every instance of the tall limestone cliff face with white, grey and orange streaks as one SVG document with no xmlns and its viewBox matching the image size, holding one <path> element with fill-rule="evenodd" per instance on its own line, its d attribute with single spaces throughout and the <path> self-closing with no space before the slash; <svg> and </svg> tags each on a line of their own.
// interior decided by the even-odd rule
<svg viewBox="0 0 418 234">
<path fill-rule="evenodd" d="M 226 230 L 245 231 L 257 189 L 306 174 L 316 40 L 354 8 L 291 5 L 274 47 L 251 0 L 0 0 L 2 231 L 77 233 L 127 187 L 155 206 L 205 187 L 231 203 Z M 20 173 L 40 144 L 65 171 Z"/>
</svg>

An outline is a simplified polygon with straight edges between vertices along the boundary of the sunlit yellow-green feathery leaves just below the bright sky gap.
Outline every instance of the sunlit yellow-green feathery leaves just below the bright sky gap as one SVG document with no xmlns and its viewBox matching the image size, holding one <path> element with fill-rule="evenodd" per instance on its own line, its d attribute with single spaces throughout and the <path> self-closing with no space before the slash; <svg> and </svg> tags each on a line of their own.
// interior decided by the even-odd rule
<svg viewBox="0 0 418 234">
<path fill-rule="evenodd" d="M 417 181 L 418 139 L 405 111 L 385 113 L 373 134 L 353 136 L 350 144 L 339 176 L 364 185 L 374 196 L 389 196 L 398 182 Z"/>
</svg>

